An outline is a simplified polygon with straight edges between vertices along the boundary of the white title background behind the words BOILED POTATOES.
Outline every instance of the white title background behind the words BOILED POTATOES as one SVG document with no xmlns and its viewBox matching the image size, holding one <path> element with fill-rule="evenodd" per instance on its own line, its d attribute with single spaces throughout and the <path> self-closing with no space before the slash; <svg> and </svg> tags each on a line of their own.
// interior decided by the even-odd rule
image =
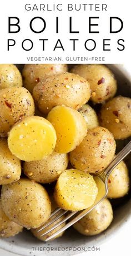
<svg viewBox="0 0 131 256">
<path fill-rule="evenodd" d="M 49 4 L 49 8 L 52 8 L 53 3 L 63 3 L 63 11 L 25 11 L 24 6 L 26 3 L 31 3 L 31 6 L 34 3 Z M 67 11 L 68 3 L 106 3 L 107 12 L 105 11 Z M 88 58 L 96 57 L 105 57 L 105 63 L 124 63 L 129 58 L 129 47 L 130 47 L 130 26 L 129 26 L 129 17 L 130 17 L 130 1 L 119 1 L 119 0 L 44 0 L 44 1 L 27 1 L 27 0 L 4 0 L 1 1 L 0 8 L 0 22 L 1 22 L 1 40 L 0 40 L 0 54 L 1 54 L 1 63 L 28 63 L 27 57 L 62 57 L 62 62 L 66 61 L 66 57 L 71 58 L 78 56 L 85 56 Z M 128 15 L 129 13 L 129 15 Z M 8 35 L 8 16 L 16 16 L 20 19 L 21 31 L 16 34 Z M 36 34 L 31 31 L 29 28 L 29 22 L 33 17 L 41 16 L 46 20 L 47 27 L 45 31 L 41 34 Z M 56 34 L 56 16 L 59 16 L 59 34 Z M 79 34 L 69 34 L 69 16 L 72 16 L 73 19 L 73 29 L 79 30 Z M 88 33 L 88 17 L 89 16 L 99 16 L 99 26 L 94 27 L 94 29 L 99 30 L 99 34 L 89 34 Z M 117 16 L 120 17 L 124 22 L 124 27 L 121 32 L 109 34 L 109 17 Z M 95 21 L 94 21 L 95 23 Z M 42 23 L 39 21 L 36 23 L 35 28 L 38 29 L 42 26 Z M 117 28 L 119 23 L 115 22 L 114 27 Z M 16 45 L 11 47 L 7 51 L 7 39 L 16 40 Z M 22 50 L 22 41 L 26 38 L 30 38 L 33 43 L 33 49 L 31 51 Z M 45 51 L 42 51 L 42 42 L 39 39 L 48 38 L 46 42 Z M 56 42 L 60 38 L 63 43 L 65 51 L 62 49 L 57 49 L 53 51 Z M 77 43 L 76 51 L 73 52 L 72 42 L 69 41 L 69 38 L 79 38 Z M 94 51 L 87 51 L 84 48 L 84 42 L 92 38 L 97 43 L 97 47 Z M 110 38 L 110 48 L 111 51 L 103 52 L 103 38 Z M 117 40 L 119 38 L 124 39 L 125 50 L 117 50 Z M 25 46 L 26 47 L 26 46 Z M 31 61 L 30 61 L 31 62 Z M 45 61 L 43 61 L 46 63 Z M 51 62 L 51 61 L 50 61 Z M 58 61 L 57 61 L 58 62 Z M 84 63 L 80 61 L 81 63 Z M 95 62 L 94 60 L 89 60 L 89 63 Z M 39 63 L 37 61 L 36 63 Z M 52 61 L 53 63 L 53 61 Z M 72 62 L 73 63 L 73 62 Z M 78 63 L 78 60 L 77 60 Z M 98 62 L 97 62 L 98 63 Z"/>
</svg>

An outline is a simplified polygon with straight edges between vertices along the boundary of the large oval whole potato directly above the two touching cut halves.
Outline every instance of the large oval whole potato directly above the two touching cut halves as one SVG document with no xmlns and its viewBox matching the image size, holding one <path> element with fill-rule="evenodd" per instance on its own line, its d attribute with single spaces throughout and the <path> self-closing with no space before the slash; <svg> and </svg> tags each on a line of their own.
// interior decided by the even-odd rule
<svg viewBox="0 0 131 256">
<path fill-rule="evenodd" d="M 48 114 L 54 106 L 59 105 L 78 110 L 89 100 L 89 97 L 89 83 L 83 77 L 72 73 L 50 76 L 33 89 L 33 98 L 44 114 Z"/>
</svg>

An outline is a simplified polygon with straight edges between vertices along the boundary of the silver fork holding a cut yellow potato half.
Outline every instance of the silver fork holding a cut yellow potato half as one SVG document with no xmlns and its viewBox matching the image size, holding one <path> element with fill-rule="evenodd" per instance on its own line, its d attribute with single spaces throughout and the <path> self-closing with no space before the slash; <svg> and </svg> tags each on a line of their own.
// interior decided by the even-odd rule
<svg viewBox="0 0 131 256">
<path fill-rule="evenodd" d="M 105 185 L 105 194 L 97 203 L 95 203 L 90 208 L 81 211 L 80 213 L 79 213 L 79 211 L 71 211 L 70 212 L 67 210 L 63 210 L 61 208 L 57 208 L 56 210 L 53 211 L 53 213 L 51 214 L 51 217 L 49 218 L 48 223 L 44 224 L 40 229 L 37 230 L 37 232 L 40 232 L 43 230 L 41 237 L 43 237 L 43 235 L 48 234 L 55 228 L 59 227 L 59 225 L 64 223 L 66 220 L 70 219 L 75 214 L 77 214 L 77 213 L 79 213 L 79 214 L 77 216 L 74 216 L 74 218 L 72 220 L 70 220 L 63 228 L 59 229 L 54 234 L 49 235 L 49 237 L 46 239 L 46 242 L 48 240 L 51 240 L 52 238 L 56 237 L 56 235 L 63 232 L 64 230 L 68 229 L 75 222 L 82 219 L 86 214 L 90 213 L 90 211 L 92 211 L 107 196 L 107 194 L 108 194 L 108 178 L 109 178 L 110 173 L 112 173 L 112 170 L 120 163 L 120 161 L 122 161 L 125 158 L 125 156 L 127 156 L 129 154 L 130 151 L 131 151 L 131 141 L 117 154 L 117 156 L 115 156 L 115 158 L 112 160 L 112 162 L 104 170 L 104 173 L 99 175 L 99 178 L 104 182 L 104 185 Z M 56 214 L 57 214 L 57 216 L 56 216 Z M 53 225 L 53 227 L 49 228 L 46 232 L 44 232 L 45 228 L 47 228 L 49 225 L 54 223 L 54 221 L 58 220 L 64 214 L 67 214 L 67 215 L 65 216 L 65 218 L 63 220 L 58 221 L 56 224 Z"/>
</svg>

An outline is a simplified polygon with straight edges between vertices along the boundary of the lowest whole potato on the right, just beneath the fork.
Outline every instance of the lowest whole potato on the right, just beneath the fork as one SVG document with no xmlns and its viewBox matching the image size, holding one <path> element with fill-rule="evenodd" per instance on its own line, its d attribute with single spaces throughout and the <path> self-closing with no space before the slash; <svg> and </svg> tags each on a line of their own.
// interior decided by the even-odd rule
<svg viewBox="0 0 131 256">
<path fill-rule="evenodd" d="M 97 235 L 107 229 L 113 220 L 112 205 L 104 199 L 96 208 L 85 215 L 73 227 L 83 235 Z"/>
</svg>

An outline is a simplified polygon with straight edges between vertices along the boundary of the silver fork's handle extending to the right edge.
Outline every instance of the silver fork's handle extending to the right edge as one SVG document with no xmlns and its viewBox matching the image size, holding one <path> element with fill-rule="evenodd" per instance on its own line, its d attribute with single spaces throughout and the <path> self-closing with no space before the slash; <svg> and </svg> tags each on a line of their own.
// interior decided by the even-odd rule
<svg viewBox="0 0 131 256">
<path fill-rule="evenodd" d="M 129 154 L 131 151 L 131 141 L 115 156 L 115 158 L 112 160 L 112 162 L 108 165 L 108 167 L 105 169 L 105 171 L 102 174 L 102 177 L 104 178 L 105 183 L 107 182 L 110 173 L 112 173 L 112 170 Z"/>
</svg>

